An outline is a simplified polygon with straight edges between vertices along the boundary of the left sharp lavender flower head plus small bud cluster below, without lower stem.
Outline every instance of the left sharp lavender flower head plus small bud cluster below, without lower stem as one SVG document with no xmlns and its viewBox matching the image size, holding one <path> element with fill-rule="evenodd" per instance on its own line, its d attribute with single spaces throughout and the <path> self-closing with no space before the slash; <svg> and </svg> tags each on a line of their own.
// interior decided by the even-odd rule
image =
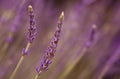
<svg viewBox="0 0 120 79">
<path fill-rule="evenodd" d="M 34 13 L 33 13 L 33 8 L 31 5 L 28 6 L 28 12 L 29 12 L 29 26 L 28 26 L 28 33 L 27 33 L 27 41 L 28 44 L 26 48 L 23 48 L 23 55 L 28 54 L 28 49 L 30 47 L 30 44 L 33 42 L 33 40 L 36 37 L 37 31 L 36 31 L 36 26 L 35 26 L 35 19 L 34 19 Z"/>
</svg>

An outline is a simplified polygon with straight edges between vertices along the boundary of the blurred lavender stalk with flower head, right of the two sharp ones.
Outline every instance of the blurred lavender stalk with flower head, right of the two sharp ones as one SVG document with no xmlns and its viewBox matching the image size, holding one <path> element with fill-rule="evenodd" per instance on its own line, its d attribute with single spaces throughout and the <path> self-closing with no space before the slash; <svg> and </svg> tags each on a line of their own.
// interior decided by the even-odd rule
<svg viewBox="0 0 120 79">
<path fill-rule="evenodd" d="M 63 74 L 60 76 L 59 79 L 63 79 L 66 76 L 68 76 L 69 72 L 72 71 L 72 69 L 77 65 L 77 63 L 83 58 L 83 56 L 86 54 L 88 48 L 90 48 L 92 46 L 92 44 L 95 41 L 95 34 L 96 34 L 96 25 L 92 25 L 92 29 L 90 31 L 90 35 L 88 40 L 85 43 L 85 46 L 82 48 L 81 52 L 80 52 L 80 56 L 78 58 L 76 58 L 76 61 L 74 61 L 72 64 L 71 62 L 69 64 L 67 64 L 66 66 L 66 70 L 63 72 Z"/>
</svg>

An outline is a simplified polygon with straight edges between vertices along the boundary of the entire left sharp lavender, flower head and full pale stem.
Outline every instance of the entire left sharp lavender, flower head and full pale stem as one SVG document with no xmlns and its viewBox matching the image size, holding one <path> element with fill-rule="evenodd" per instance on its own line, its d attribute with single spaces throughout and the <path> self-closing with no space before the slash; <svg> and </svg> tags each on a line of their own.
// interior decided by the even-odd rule
<svg viewBox="0 0 120 79">
<path fill-rule="evenodd" d="M 36 27 L 35 27 L 35 21 L 34 21 L 34 13 L 33 8 L 31 5 L 28 6 L 29 16 L 30 16 L 30 26 L 28 27 L 28 34 L 27 34 L 27 45 L 22 50 L 22 55 L 18 61 L 17 66 L 15 67 L 14 71 L 12 72 L 9 79 L 14 79 L 18 69 L 20 68 L 25 56 L 28 54 L 29 48 L 31 46 L 31 43 L 33 42 L 35 36 L 36 36 Z"/>
</svg>

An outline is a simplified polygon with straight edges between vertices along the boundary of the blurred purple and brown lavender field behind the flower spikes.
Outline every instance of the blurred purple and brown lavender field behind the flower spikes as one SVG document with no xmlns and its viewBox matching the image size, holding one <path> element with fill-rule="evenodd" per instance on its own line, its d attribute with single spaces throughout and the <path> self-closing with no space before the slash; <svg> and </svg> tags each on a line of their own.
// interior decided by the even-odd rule
<svg viewBox="0 0 120 79">
<path fill-rule="evenodd" d="M 0 79 L 9 79 L 27 44 L 29 4 L 38 32 L 15 79 L 37 74 L 61 11 L 65 19 L 57 52 L 39 79 L 99 79 L 105 68 L 102 79 L 120 79 L 120 0 L 0 0 Z M 95 39 L 84 51 L 93 24 Z"/>
</svg>

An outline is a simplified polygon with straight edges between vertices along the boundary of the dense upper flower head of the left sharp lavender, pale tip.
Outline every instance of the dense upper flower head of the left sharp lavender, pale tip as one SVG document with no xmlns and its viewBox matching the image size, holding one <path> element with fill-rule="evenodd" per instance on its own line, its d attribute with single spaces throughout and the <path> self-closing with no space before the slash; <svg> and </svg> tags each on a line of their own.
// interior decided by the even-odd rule
<svg viewBox="0 0 120 79">
<path fill-rule="evenodd" d="M 33 8 L 31 5 L 28 6 L 28 10 L 29 10 L 29 17 L 30 17 L 30 25 L 28 27 L 27 40 L 28 42 L 32 43 L 36 37 L 37 32 L 36 32 Z"/>
</svg>

